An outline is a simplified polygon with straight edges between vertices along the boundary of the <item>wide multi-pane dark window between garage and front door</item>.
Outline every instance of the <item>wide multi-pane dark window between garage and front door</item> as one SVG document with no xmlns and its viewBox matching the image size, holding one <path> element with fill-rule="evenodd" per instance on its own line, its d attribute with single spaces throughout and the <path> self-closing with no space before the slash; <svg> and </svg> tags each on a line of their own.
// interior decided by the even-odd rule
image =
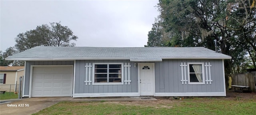
<svg viewBox="0 0 256 115">
<path fill-rule="evenodd" d="M 122 63 L 94 63 L 94 83 L 122 83 Z"/>
</svg>

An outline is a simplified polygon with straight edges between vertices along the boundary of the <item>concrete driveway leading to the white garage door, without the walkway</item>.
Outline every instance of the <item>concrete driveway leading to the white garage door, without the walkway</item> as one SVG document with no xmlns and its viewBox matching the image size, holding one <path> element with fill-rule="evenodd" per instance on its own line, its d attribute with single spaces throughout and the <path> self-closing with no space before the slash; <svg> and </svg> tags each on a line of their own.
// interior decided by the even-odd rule
<svg viewBox="0 0 256 115">
<path fill-rule="evenodd" d="M 50 107 L 60 101 L 71 101 L 73 97 L 33 97 L 11 101 L 11 103 L 0 103 L 0 115 L 30 115 L 46 107 Z"/>
</svg>

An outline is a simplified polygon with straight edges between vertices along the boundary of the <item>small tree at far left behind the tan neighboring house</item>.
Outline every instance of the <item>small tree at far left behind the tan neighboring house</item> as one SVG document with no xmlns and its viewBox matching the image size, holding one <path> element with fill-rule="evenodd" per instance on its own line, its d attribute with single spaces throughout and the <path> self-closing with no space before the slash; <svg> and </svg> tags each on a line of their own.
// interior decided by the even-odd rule
<svg viewBox="0 0 256 115">
<path fill-rule="evenodd" d="M 5 52 L 0 51 L 0 66 L 24 66 L 23 61 L 7 61 L 4 58 L 17 54 L 18 52 L 14 47 L 9 47 Z"/>
</svg>

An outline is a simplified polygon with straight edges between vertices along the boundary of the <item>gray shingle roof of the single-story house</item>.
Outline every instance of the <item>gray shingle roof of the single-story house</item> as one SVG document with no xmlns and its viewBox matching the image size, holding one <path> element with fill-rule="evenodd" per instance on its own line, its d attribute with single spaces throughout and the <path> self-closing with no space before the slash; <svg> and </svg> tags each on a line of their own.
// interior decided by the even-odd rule
<svg viewBox="0 0 256 115">
<path fill-rule="evenodd" d="M 89 58 L 127 58 L 131 60 L 162 59 L 230 59 L 230 56 L 216 53 L 203 47 L 47 47 L 37 46 L 9 56 L 8 60 L 33 59 L 89 59 Z"/>
</svg>

